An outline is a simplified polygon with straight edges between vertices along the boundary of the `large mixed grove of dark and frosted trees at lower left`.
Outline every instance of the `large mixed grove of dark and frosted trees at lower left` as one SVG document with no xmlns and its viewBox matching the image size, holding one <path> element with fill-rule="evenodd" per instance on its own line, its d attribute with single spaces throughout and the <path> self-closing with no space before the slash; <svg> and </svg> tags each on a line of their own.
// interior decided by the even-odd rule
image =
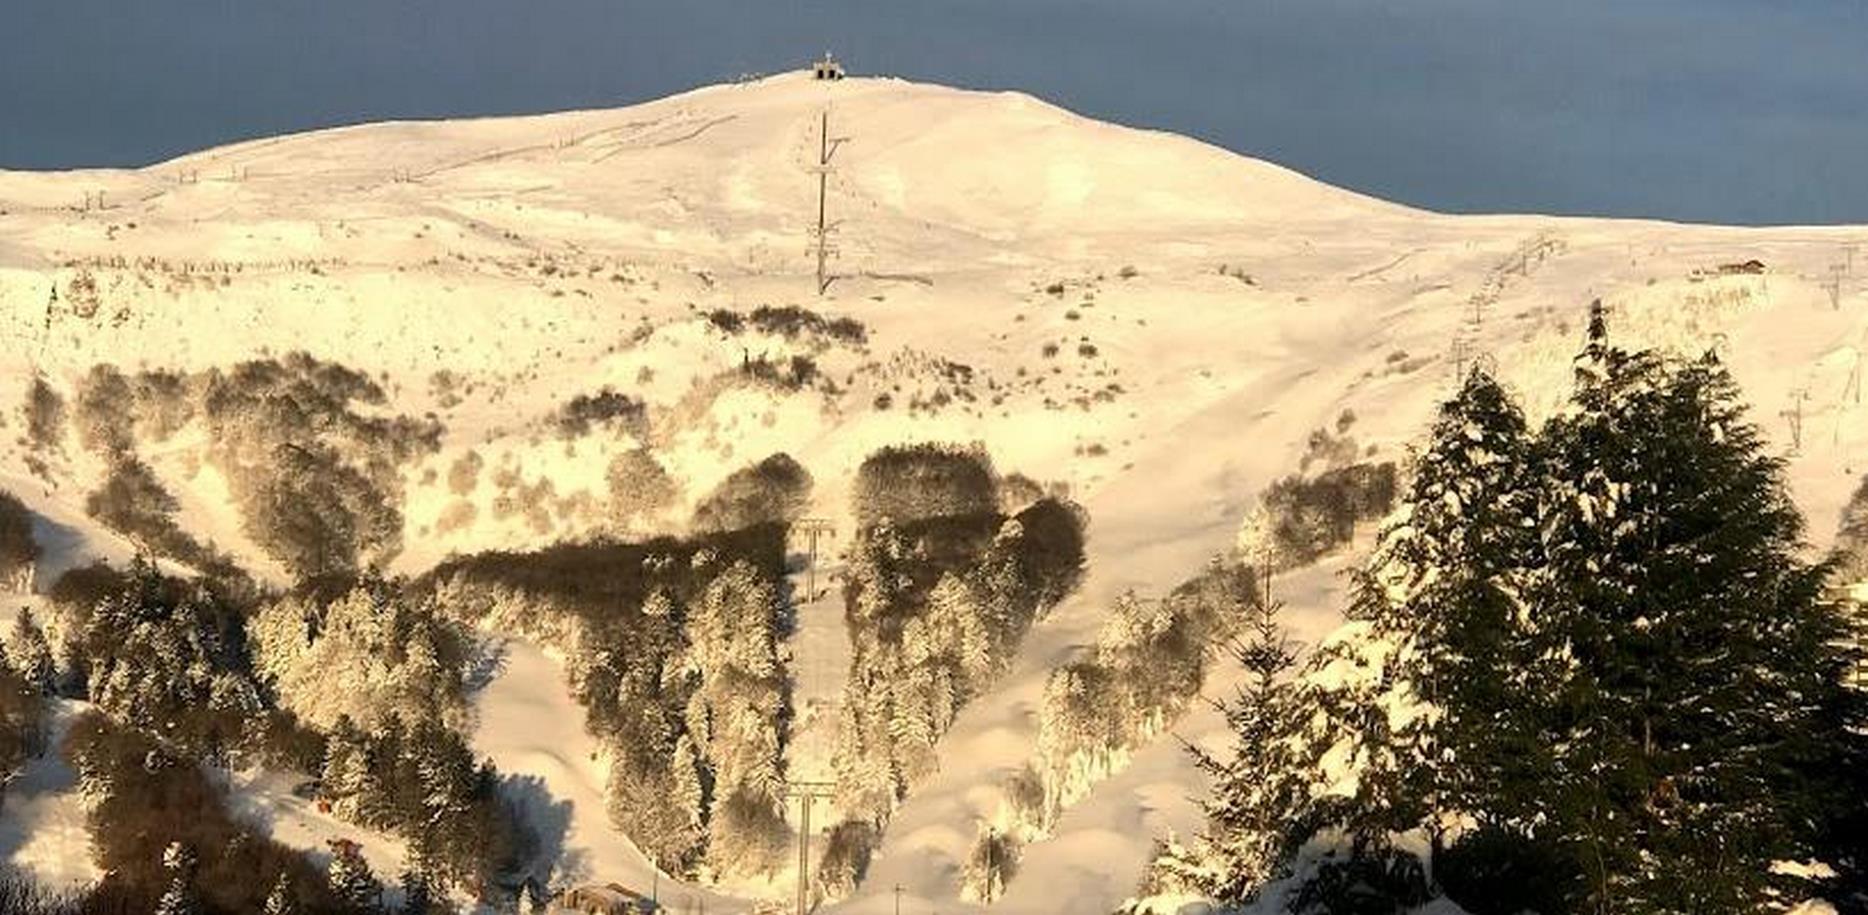
<svg viewBox="0 0 1868 915">
<path fill-rule="evenodd" d="M 28 687 L 95 706 L 65 753 L 93 801 L 99 866 L 110 872 L 97 893 L 153 902 L 185 885 L 200 908 L 181 911 L 245 913 L 260 911 L 278 878 L 299 887 L 280 891 L 299 911 L 374 911 L 347 908 L 342 894 L 333 904 L 323 876 L 303 874 L 295 853 L 228 820 L 202 764 L 323 773 L 336 812 L 407 838 L 405 883 L 437 900 L 450 887 L 497 893 L 495 878 L 525 855 L 529 837 L 499 797 L 499 773 L 476 764 L 454 730 L 465 723 L 474 646 L 396 584 L 336 594 L 325 601 L 303 588 L 265 603 L 213 579 L 164 577 L 138 558 L 127 571 L 99 564 L 62 577 L 54 639 L 22 614 L 0 693 L 17 670 Z M 7 702 L 0 695 L 0 717 Z M 196 807 L 204 820 L 192 818 Z M 172 842 L 198 866 L 164 872 Z"/>
</svg>

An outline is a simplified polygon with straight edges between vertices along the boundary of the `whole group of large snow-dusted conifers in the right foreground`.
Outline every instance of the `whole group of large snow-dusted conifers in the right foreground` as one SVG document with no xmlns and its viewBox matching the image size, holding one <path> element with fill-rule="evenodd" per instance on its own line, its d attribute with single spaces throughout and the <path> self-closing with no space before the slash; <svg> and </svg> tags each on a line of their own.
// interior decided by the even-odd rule
<svg viewBox="0 0 1868 915">
<path fill-rule="evenodd" d="M 1713 357 L 1616 349 L 1597 312 L 1541 428 L 1474 372 L 1349 626 L 1229 708 L 1205 844 L 1162 868 L 1225 902 L 1293 878 L 1300 911 L 1859 909 L 1862 620 L 1801 538 Z"/>
</svg>

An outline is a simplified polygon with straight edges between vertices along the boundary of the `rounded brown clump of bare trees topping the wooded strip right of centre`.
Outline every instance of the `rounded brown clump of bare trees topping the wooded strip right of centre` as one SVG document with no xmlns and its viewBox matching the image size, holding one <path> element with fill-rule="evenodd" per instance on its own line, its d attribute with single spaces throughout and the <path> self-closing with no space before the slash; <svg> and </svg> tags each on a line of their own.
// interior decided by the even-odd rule
<svg viewBox="0 0 1868 915">
<path fill-rule="evenodd" d="M 999 508 L 992 459 L 955 444 L 891 444 L 856 471 L 856 512 L 863 527 L 927 517 L 988 515 Z"/>
</svg>

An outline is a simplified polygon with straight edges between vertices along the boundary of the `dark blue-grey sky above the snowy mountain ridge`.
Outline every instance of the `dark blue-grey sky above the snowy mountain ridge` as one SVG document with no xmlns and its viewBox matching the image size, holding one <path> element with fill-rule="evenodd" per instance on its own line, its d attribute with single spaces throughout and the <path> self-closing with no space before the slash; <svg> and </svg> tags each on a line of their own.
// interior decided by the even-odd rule
<svg viewBox="0 0 1868 915">
<path fill-rule="evenodd" d="M 1446 211 L 1868 222 L 1868 0 L 0 0 L 0 166 L 624 105 L 826 47 Z"/>
</svg>

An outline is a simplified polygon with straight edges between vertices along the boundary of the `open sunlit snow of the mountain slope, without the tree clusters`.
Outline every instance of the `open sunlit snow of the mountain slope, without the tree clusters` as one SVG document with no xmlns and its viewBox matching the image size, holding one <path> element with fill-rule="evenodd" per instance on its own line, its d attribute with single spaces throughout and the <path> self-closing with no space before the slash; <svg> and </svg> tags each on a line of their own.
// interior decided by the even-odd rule
<svg viewBox="0 0 1868 915">
<path fill-rule="evenodd" d="M 807 228 L 826 110 L 837 258 L 818 297 Z M 1868 471 L 1861 241 L 1868 230 L 1446 217 L 1026 95 L 869 78 L 364 125 L 131 172 L 0 172 L 0 480 L 69 532 L 54 562 L 120 555 L 84 521 L 95 469 L 77 443 L 39 476 L 13 443 L 32 372 L 69 388 L 93 362 L 192 370 L 291 349 L 381 377 L 389 409 L 445 424 L 439 454 L 405 471 L 409 571 L 601 527 L 605 467 L 631 435 L 564 439 L 547 418 L 605 385 L 648 401 L 646 444 L 684 504 L 785 450 L 842 532 L 848 476 L 872 448 L 986 443 L 1001 471 L 1068 484 L 1089 508 L 1091 575 L 962 713 L 941 773 L 842 906 L 891 911 L 900 883 L 904 911 L 956 911 L 975 822 L 1031 756 L 1044 676 L 1093 639 L 1111 594 L 1162 592 L 1225 549 L 1253 495 L 1343 411 L 1364 444 L 1399 456 L 1472 359 L 1552 407 L 1593 297 L 1629 345 L 1726 355 L 1827 540 Z M 1748 260 L 1763 273 L 1719 271 Z M 760 304 L 854 317 L 867 344 L 727 334 L 702 317 Z M 732 381 L 749 359 L 794 353 L 833 385 Z M 456 487 L 467 452 L 484 471 Z M 250 553 L 211 467 L 157 469 L 187 487 L 185 527 Z M 1308 637 L 1328 627 L 1326 570 L 1287 590 Z M 839 650 L 800 652 L 824 655 Z M 534 775 L 588 794 L 594 769 L 562 745 L 579 732 L 506 721 L 540 689 L 512 680 L 521 657 L 484 698 L 497 704 L 476 741 L 519 773 L 564 760 Z M 523 669 L 551 669 L 534 661 Z M 1192 715 L 1177 732 L 1214 728 Z M 1194 792 L 1162 738 L 1027 848 L 994 908 L 1106 911 L 1154 835 L 1196 825 Z M 639 880 L 600 820 L 572 822 L 592 874 Z"/>
</svg>

